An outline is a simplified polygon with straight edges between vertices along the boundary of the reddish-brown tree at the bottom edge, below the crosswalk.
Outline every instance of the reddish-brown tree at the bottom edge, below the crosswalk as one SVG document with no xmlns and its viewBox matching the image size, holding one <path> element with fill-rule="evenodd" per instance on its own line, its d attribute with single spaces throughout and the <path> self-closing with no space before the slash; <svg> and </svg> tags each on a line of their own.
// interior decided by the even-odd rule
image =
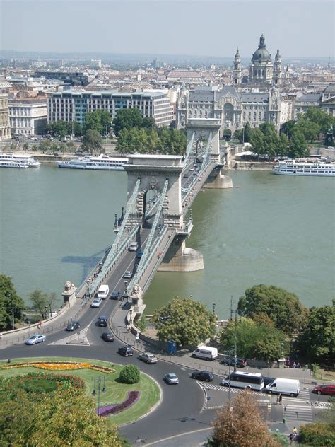
<svg viewBox="0 0 335 447">
<path fill-rule="evenodd" d="M 260 443 L 261 440 L 261 443 Z M 279 447 L 269 432 L 259 405 L 252 393 L 244 391 L 232 402 L 228 402 L 222 412 L 216 414 L 213 422 L 213 436 L 208 439 L 211 447 Z"/>
</svg>

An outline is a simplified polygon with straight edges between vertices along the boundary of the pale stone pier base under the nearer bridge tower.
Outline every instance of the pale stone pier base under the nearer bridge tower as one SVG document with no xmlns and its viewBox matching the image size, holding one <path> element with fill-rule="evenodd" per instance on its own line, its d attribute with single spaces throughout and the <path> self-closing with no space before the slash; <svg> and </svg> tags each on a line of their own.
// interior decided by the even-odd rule
<svg viewBox="0 0 335 447">
<path fill-rule="evenodd" d="M 158 267 L 159 272 L 195 272 L 204 268 L 201 252 L 188 248 L 184 236 L 175 236 Z"/>
</svg>

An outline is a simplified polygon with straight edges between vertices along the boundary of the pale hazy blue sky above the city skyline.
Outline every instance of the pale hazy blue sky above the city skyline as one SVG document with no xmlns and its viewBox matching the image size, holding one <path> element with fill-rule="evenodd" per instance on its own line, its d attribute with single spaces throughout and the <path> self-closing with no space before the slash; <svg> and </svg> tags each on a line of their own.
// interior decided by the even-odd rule
<svg viewBox="0 0 335 447">
<path fill-rule="evenodd" d="M 334 57 L 329 0 L 0 0 L 4 50 Z"/>
</svg>

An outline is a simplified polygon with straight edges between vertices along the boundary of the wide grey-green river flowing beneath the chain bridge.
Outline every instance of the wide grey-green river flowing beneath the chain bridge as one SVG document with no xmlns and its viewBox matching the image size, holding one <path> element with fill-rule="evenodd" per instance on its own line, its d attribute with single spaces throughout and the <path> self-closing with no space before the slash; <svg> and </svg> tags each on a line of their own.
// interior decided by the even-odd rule
<svg viewBox="0 0 335 447">
<path fill-rule="evenodd" d="M 233 189 L 205 190 L 193 205 L 187 246 L 204 270 L 158 272 L 146 313 L 173 296 L 193 296 L 227 318 L 230 299 L 254 284 L 273 284 L 305 306 L 334 298 L 335 179 L 228 171 Z M 56 166 L 0 170 L 0 272 L 28 303 L 35 289 L 78 285 L 114 240 L 114 214 L 126 199 L 123 172 Z"/>
</svg>

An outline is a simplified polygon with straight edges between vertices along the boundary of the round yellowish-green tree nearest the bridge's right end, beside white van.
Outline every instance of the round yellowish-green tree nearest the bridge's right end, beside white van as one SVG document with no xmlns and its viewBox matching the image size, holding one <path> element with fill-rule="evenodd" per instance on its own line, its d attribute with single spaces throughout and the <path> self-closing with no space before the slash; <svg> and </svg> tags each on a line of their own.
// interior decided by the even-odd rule
<svg viewBox="0 0 335 447">
<path fill-rule="evenodd" d="M 174 340 L 182 346 L 203 343 L 216 333 L 216 316 L 191 298 L 176 296 L 167 306 L 155 310 L 151 321 L 161 341 Z"/>
</svg>

